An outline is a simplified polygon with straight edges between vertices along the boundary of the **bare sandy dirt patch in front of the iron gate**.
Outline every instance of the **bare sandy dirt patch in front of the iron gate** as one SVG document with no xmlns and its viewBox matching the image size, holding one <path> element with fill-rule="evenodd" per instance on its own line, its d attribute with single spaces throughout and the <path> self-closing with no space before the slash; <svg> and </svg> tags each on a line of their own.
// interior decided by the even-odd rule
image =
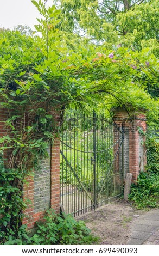
<svg viewBox="0 0 159 256">
<path fill-rule="evenodd" d="M 131 225 L 144 211 L 133 209 L 131 204 L 118 200 L 101 206 L 96 211 L 76 217 L 100 237 L 99 245 L 126 245 L 131 235 Z"/>
</svg>

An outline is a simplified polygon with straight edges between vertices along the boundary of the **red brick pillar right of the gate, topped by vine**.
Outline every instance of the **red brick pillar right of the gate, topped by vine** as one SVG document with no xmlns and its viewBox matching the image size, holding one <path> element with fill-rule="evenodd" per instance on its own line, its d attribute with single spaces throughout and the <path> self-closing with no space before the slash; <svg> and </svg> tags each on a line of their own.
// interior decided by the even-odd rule
<svg viewBox="0 0 159 256">
<path fill-rule="evenodd" d="M 139 132 L 139 129 L 143 132 L 146 131 L 145 114 L 133 110 L 129 111 L 128 114 L 124 108 L 120 107 L 113 111 L 115 112 L 115 123 L 123 127 L 125 131 L 124 173 L 132 173 L 132 182 L 135 182 L 139 172 L 144 171 L 144 166 L 147 163 L 144 145 L 145 136 Z"/>
</svg>

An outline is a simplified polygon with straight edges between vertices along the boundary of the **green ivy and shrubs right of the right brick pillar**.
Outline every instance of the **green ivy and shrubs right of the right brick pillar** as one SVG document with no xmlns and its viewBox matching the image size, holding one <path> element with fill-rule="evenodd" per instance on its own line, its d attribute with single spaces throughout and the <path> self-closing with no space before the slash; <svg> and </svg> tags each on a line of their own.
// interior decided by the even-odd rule
<svg viewBox="0 0 159 256">
<path fill-rule="evenodd" d="M 137 184 L 132 185 L 129 199 L 135 203 L 138 209 L 159 206 L 159 147 L 155 138 L 149 138 L 147 142 L 147 172 L 141 172 Z"/>
</svg>

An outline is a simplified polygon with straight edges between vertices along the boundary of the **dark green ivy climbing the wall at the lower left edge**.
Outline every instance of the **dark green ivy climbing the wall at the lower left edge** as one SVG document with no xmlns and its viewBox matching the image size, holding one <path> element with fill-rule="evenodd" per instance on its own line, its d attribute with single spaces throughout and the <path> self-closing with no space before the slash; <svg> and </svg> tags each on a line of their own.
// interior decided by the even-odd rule
<svg viewBox="0 0 159 256">
<path fill-rule="evenodd" d="M 6 237 L 18 234 L 26 203 L 22 198 L 22 173 L 4 168 L 2 157 L 0 170 L 0 241 L 3 242 Z"/>
</svg>

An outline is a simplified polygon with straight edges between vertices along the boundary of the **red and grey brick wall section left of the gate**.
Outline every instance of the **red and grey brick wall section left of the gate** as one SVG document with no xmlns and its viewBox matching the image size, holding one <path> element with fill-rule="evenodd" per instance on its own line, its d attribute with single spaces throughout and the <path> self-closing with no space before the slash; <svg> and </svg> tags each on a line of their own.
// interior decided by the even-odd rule
<svg viewBox="0 0 159 256">
<path fill-rule="evenodd" d="M 59 125 L 60 115 L 52 113 L 55 128 Z M 22 224 L 34 228 L 36 221 L 42 221 L 46 210 L 60 211 L 60 138 L 55 132 L 52 145 L 48 145 L 48 159 L 42 161 L 42 170 L 28 176 L 23 186 L 23 197 L 28 202 Z"/>
</svg>

